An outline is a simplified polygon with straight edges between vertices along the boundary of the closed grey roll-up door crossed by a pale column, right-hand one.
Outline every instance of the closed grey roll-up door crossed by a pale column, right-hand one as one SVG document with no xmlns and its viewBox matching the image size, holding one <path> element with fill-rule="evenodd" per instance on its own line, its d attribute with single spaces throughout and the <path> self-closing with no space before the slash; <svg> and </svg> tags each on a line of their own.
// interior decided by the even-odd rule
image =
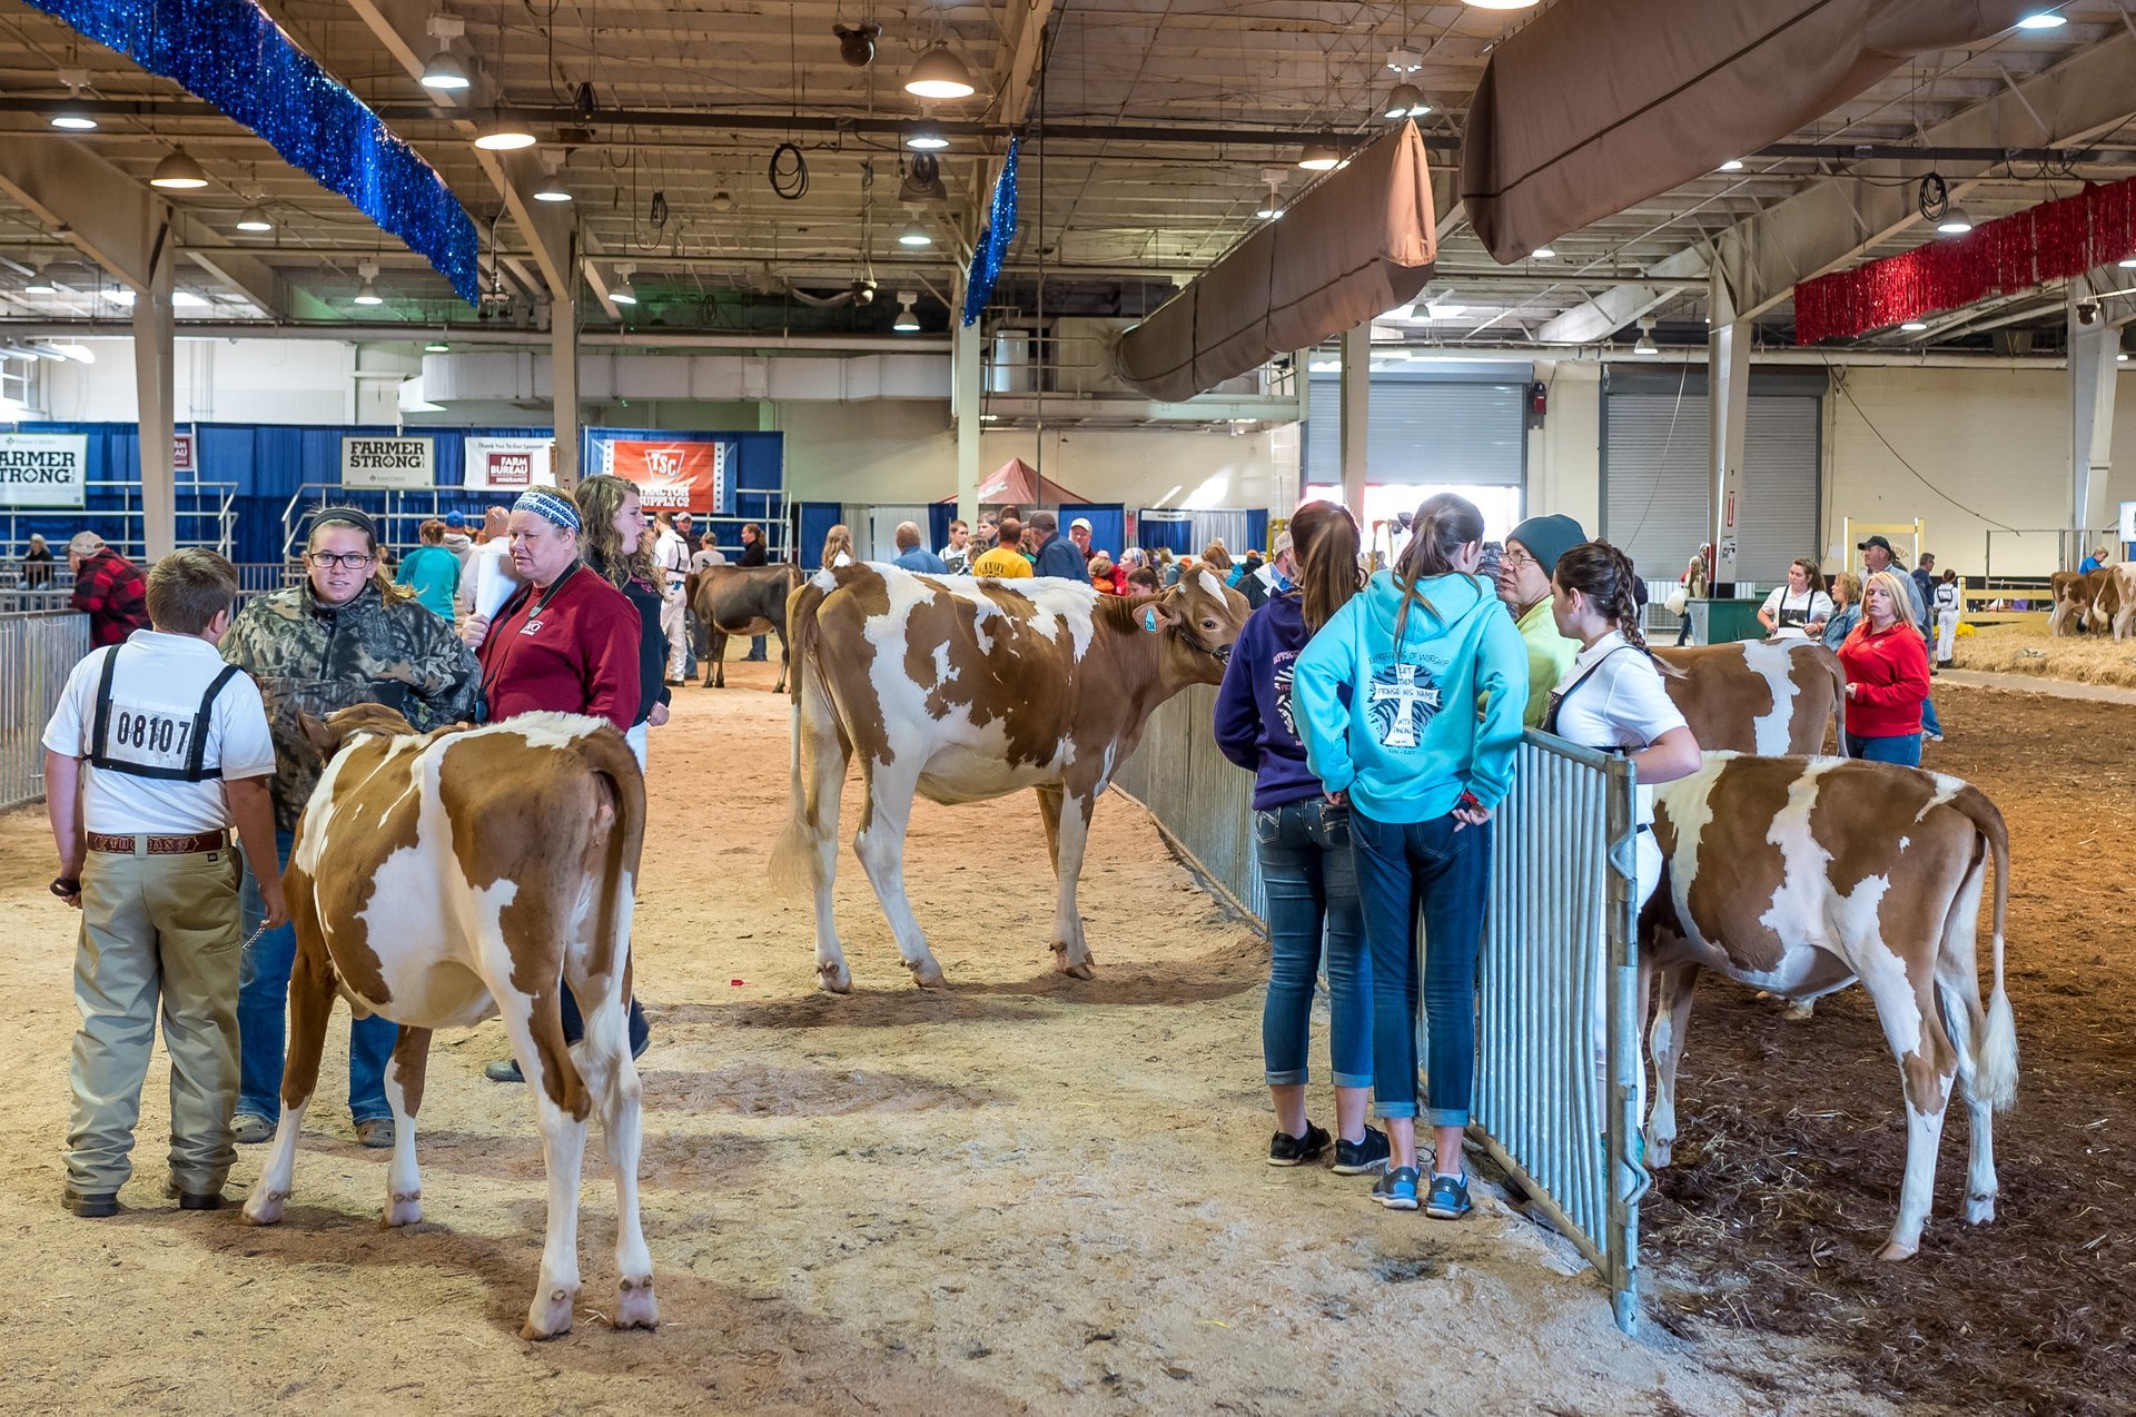
<svg viewBox="0 0 2136 1417">
<path fill-rule="evenodd" d="M 1643 576 L 1675 576 L 1711 536 L 1702 380 L 1696 388 L 1687 382 L 1681 397 L 1613 388 L 1604 425 L 1600 536 L 1630 555 Z M 1752 393 L 1737 508 L 1741 580 L 1779 585 L 1788 561 L 1818 553 L 1820 429 L 1816 397 Z"/>
</svg>

